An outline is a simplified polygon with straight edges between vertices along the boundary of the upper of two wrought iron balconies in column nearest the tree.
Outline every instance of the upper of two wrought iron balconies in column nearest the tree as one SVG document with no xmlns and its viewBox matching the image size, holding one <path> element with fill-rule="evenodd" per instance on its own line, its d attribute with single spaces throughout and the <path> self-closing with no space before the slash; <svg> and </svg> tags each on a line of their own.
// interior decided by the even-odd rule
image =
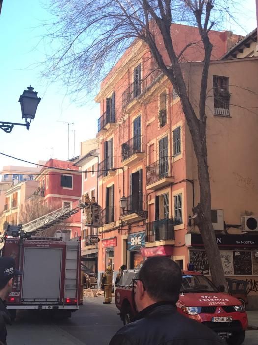
<svg viewBox="0 0 258 345">
<path fill-rule="evenodd" d="M 157 190 L 172 183 L 173 180 L 171 157 L 163 157 L 146 167 L 147 189 Z"/>
</svg>

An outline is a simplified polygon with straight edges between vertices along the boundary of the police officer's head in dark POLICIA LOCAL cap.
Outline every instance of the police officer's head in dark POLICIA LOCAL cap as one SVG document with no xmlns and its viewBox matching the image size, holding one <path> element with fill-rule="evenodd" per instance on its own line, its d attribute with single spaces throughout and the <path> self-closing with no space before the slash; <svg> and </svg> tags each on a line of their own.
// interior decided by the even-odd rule
<svg viewBox="0 0 258 345">
<path fill-rule="evenodd" d="M 14 277 L 19 274 L 15 270 L 15 261 L 11 257 L 0 258 L 0 297 L 5 299 L 12 291 Z"/>
</svg>

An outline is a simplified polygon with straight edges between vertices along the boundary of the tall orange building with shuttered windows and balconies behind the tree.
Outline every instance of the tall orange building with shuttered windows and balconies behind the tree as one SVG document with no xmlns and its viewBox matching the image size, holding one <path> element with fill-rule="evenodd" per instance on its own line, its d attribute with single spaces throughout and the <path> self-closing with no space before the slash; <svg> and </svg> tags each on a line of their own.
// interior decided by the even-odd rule
<svg viewBox="0 0 258 345">
<path fill-rule="evenodd" d="M 182 40 L 187 44 L 186 27 L 178 25 L 177 29 L 180 44 Z M 216 59 L 230 48 L 225 36 L 212 33 Z M 185 61 L 194 60 L 193 48 L 188 54 Z M 193 104 L 199 104 L 201 65 L 186 62 L 183 68 Z M 258 139 L 257 117 L 248 110 L 256 107 L 252 92 L 257 88 L 255 69 L 255 57 L 212 62 L 206 109 L 213 225 L 226 271 L 230 261 L 225 274 L 240 276 L 251 285 L 258 282 L 258 233 L 243 232 L 241 217 L 258 214 L 258 177 L 248 168 L 250 160 L 254 167 L 258 165 L 256 151 L 250 150 Z M 194 262 L 196 269 L 209 274 L 201 236 L 192 219 L 199 186 L 189 129 L 172 84 L 155 70 L 141 42 L 135 42 L 119 60 L 95 100 L 101 108 L 97 134 L 98 203 L 103 208 L 99 272 L 107 264 L 114 271 L 122 264 L 139 268 L 146 258 L 164 255 L 181 268 Z M 247 150 L 248 156 L 244 155 Z M 246 178 L 253 189 L 243 182 Z M 238 255 L 250 259 L 251 266 L 237 266 Z M 257 292 L 250 289 L 249 293 L 257 300 Z"/>
</svg>

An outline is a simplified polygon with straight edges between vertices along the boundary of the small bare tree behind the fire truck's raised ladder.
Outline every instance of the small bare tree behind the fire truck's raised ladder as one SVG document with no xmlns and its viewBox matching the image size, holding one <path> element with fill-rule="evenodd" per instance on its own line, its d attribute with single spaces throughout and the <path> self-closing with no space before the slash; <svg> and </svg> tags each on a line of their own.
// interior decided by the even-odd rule
<svg viewBox="0 0 258 345">
<path fill-rule="evenodd" d="M 57 210 L 62 207 L 58 202 L 52 202 L 51 205 L 44 203 L 42 198 L 37 195 L 31 196 L 25 201 L 25 204 L 20 206 L 20 221 L 21 224 L 26 224 L 40 218 L 50 212 Z M 49 229 L 43 230 L 39 233 L 40 236 L 54 236 L 57 230 L 65 230 L 69 218 L 62 221 L 58 225 L 54 225 Z"/>
</svg>

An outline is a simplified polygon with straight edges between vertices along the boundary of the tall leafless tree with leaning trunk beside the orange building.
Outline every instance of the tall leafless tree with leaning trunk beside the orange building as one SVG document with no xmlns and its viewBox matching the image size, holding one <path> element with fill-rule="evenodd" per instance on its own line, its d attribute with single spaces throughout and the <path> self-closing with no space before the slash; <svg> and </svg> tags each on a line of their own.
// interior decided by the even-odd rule
<svg viewBox="0 0 258 345">
<path fill-rule="evenodd" d="M 208 71 L 212 54 L 211 28 L 228 12 L 224 0 L 52 0 L 49 11 L 50 43 L 55 52 L 47 59 L 46 76 L 62 78 L 73 92 L 92 90 L 121 57 L 140 40 L 157 68 L 169 79 L 181 99 L 198 164 L 200 202 L 193 209 L 209 260 L 212 280 L 226 286 L 219 249 L 211 222 L 205 115 Z M 228 14 L 229 15 L 229 14 Z M 177 52 L 172 23 L 194 25 L 199 38 Z M 162 42 L 163 52 L 160 49 Z M 199 109 L 189 99 L 181 62 L 192 45 L 203 50 Z M 119 64 L 114 69 L 119 72 Z"/>
</svg>

